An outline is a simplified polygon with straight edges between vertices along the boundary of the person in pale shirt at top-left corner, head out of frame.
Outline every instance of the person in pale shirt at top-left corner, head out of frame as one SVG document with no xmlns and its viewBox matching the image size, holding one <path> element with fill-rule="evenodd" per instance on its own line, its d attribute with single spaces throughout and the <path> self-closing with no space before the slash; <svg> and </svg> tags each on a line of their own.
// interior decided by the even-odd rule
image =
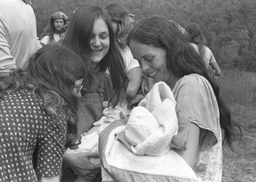
<svg viewBox="0 0 256 182">
<path fill-rule="evenodd" d="M 0 1 L 0 73 L 22 68 L 40 49 L 35 14 L 22 0 Z"/>
</svg>

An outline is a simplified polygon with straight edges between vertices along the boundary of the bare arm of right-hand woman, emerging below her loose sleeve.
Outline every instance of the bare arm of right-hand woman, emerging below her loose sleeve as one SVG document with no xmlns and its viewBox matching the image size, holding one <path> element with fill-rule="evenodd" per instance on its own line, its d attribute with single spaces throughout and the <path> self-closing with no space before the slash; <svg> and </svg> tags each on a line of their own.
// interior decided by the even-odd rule
<svg viewBox="0 0 256 182">
<path fill-rule="evenodd" d="M 199 160 L 199 127 L 191 123 L 187 136 L 187 150 L 174 149 L 193 169 Z"/>
</svg>

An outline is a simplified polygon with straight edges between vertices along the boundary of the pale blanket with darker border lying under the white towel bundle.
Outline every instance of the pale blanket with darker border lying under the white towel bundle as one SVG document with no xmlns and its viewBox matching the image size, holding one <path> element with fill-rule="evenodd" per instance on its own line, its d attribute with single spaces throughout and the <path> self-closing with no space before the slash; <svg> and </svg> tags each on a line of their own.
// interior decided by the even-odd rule
<svg viewBox="0 0 256 182">
<path fill-rule="evenodd" d="M 113 129 L 106 136 L 101 164 L 114 181 L 197 182 L 192 168 L 175 151 L 162 156 L 139 156 L 117 140 L 126 126 Z"/>
</svg>

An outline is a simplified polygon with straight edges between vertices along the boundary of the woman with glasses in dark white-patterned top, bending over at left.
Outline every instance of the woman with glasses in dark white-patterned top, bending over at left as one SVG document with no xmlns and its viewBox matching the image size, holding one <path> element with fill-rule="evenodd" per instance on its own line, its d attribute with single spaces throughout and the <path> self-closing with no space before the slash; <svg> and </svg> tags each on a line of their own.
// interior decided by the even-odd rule
<svg viewBox="0 0 256 182">
<path fill-rule="evenodd" d="M 63 153 L 79 141 L 78 98 L 86 72 L 78 55 L 46 45 L 24 69 L 0 76 L 0 181 L 59 181 Z"/>
</svg>

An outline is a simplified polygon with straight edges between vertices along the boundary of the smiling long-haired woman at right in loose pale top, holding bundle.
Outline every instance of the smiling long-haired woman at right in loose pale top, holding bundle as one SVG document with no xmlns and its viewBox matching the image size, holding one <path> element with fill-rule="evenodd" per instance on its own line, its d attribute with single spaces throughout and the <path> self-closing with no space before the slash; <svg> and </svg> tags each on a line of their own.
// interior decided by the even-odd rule
<svg viewBox="0 0 256 182">
<path fill-rule="evenodd" d="M 242 126 L 231 119 L 219 86 L 208 76 L 202 58 L 175 23 L 157 16 L 137 24 L 127 37 L 127 45 L 142 71 L 156 83 L 165 82 L 173 92 L 178 133 L 173 136 L 170 149 L 190 165 L 199 181 L 221 182 L 222 143 L 234 151 L 233 142 L 242 137 Z M 110 132 L 122 125 L 126 120 L 114 121 L 100 133 L 101 160 Z M 103 167 L 106 169 L 107 165 Z M 136 181 L 137 174 L 129 174 L 130 181 Z"/>
</svg>

